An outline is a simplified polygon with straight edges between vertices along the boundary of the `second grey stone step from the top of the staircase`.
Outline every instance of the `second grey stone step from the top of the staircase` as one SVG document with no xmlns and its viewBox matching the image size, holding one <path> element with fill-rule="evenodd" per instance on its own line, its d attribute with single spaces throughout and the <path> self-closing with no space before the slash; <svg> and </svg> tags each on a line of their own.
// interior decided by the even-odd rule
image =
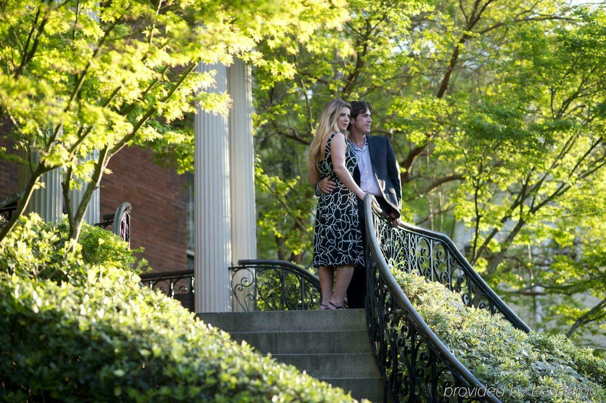
<svg viewBox="0 0 606 403">
<path fill-rule="evenodd" d="M 366 330 L 233 332 L 232 339 L 245 340 L 259 353 L 275 354 L 370 354 Z"/>
</svg>

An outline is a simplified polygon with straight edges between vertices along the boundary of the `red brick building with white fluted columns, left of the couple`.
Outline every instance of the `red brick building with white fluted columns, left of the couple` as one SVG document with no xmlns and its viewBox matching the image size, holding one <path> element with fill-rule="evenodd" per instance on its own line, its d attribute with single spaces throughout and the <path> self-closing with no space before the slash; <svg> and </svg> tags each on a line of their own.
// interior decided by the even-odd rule
<svg viewBox="0 0 606 403">
<path fill-rule="evenodd" d="M 131 246 L 145 248 L 142 256 L 150 267 L 159 272 L 193 268 L 196 311 L 228 311 L 227 268 L 239 259 L 256 258 L 250 68 L 236 61 L 230 67 L 200 64 L 198 70 L 216 70 L 212 90 L 227 91 L 233 104 L 228 117 L 196 114 L 193 178 L 155 165 L 150 150 L 125 148 L 110 160 L 112 174 L 102 177 L 87 221 L 100 222 L 103 214 L 129 202 Z M 10 128 L 4 124 L 0 130 L 4 134 Z M 14 152 L 13 145 L 0 139 L 8 152 Z M 21 171 L 17 164 L 0 162 L 0 201 L 18 192 Z M 54 190 L 36 190 L 28 205 L 31 211 L 53 207 L 56 214 L 49 220 L 60 216 L 62 205 L 61 173 L 53 175 L 45 180 L 46 188 Z"/>
</svg>

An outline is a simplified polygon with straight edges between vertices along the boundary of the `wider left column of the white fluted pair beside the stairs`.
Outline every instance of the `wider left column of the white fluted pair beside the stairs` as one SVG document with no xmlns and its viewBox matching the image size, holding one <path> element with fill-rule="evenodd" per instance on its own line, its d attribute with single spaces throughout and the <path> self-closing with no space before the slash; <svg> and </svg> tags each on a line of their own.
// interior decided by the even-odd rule
<svg viewBox="0 0 606 403">
<path fill-rule="evenodd" d="M 227 90 L 227 68 L 199 64 L 198 72 L 216 70 L 216 88 Z M 227 118 L 198 110 L 194 119 L 194 225 L 196 312 L 230 311 L 231 221 L 229 131 Z"/>
</svg>

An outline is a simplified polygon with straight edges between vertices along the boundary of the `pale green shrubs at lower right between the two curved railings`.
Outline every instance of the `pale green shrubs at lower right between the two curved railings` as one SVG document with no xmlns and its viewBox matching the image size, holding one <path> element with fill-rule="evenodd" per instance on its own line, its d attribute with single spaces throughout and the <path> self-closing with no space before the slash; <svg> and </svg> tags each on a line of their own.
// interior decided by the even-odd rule
<svg viewBox="0 0 606 403">
<path fill-rule="evenodd" d="M 504 388 L 498 396 L 502 402 L 606 402 L 606 365 L 590 348 L 574 347 L 561 336 L 524 333 L 486 310 L 465 307 L 459 295 L 439 282 L 426 282 L 402 270 L 392 273 L 419 315 L 459 361 L 483 384 Z M 511 396 L 512 387 L 525 390 L 524 399 Z M 540 396 L 542 387 L 555 387 L 560 393 Z M 597 395 L 581 397 L 582 387 L 594 388 Z M 568 388 L 577 391 L 576 397 L 568 395 Z M 539 396 L 531 396 L 533 390 Z"/>
</svg>

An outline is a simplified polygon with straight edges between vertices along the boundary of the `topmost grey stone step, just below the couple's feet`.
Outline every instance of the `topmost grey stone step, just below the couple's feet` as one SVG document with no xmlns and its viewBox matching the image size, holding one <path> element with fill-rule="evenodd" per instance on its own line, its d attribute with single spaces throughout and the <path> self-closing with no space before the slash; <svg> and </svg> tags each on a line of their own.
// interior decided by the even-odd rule
<svg viewBox="0 0 606 403">
<path fill-rule="evenodd" d="M 364 309 L 205 312 L 196 316 L 228 333 L 366 329 Z"/>
</svg>

